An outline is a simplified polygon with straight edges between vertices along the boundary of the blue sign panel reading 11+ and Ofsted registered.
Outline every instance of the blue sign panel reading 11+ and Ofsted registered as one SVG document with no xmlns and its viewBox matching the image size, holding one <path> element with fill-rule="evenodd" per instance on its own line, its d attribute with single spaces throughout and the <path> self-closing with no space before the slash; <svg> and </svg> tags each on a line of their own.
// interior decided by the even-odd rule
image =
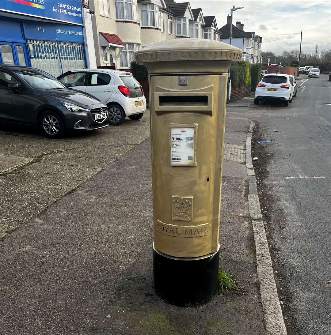
<svg viewBox="0 0 331 335">
<path fill-rule="evenodd" d="M 80 26 L 33 21 L 25 22 L 25 31 L 29 40 L 84 42 L 83 29 Z"/>
</svg>

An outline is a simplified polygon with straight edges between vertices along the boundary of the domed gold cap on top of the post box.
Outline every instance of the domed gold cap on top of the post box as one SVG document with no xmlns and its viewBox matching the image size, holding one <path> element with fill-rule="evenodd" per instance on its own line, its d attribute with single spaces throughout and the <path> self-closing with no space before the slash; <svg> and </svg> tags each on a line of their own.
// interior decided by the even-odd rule
<svg viewBox="0 0 331 335">
<path fill-rule="evenodd" d="M 242 51 L 230 44 L 207 39 L 180 38 L 151 44 L 135 52 L 137 63 L 169 61 L 241 60 Z M 145 65 L 145 64 L 144 64 Z"/>
</svg>

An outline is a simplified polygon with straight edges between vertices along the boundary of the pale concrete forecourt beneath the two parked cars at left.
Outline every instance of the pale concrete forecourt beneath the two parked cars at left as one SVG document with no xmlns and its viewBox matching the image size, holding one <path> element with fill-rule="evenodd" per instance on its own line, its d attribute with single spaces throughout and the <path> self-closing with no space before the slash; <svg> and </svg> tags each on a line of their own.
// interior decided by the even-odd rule
<svg viewBox="0 0 331 335">
<path fill-rule="evenodd" d="M 62 139 L 0 125 L 0 238 L 149 136 L 149 111 L 139 121 Z"/>
</svg>

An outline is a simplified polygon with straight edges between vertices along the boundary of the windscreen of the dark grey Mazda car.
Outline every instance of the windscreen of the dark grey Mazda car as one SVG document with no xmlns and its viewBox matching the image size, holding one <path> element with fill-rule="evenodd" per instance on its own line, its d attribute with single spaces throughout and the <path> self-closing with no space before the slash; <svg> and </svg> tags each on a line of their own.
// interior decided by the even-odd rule
<svg viewBox="0 0 331 335">
<path fill-rule="evenodd" d="M 45 72 L 37 72 L 33 70 L 13 70 L 16 74 L 27 81 L 33 88 L 37 89 L 59 89 L 66 88 L 59 80 Z"/>
</svg>

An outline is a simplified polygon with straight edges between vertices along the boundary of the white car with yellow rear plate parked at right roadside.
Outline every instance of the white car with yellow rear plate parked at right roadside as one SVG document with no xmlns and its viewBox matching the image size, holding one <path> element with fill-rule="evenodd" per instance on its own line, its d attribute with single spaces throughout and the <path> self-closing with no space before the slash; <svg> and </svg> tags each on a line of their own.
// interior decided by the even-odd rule
<svg viewBox="0 0 331 335">
<path fill-rule="evenodd" d="M 254 104 L 258 105 L 261 100 L 281 100 L 284 106 L 288 106 L 292 102 L 293 91 L 288 74 L 269 73 L 258 83 Z"/>
</svg>

